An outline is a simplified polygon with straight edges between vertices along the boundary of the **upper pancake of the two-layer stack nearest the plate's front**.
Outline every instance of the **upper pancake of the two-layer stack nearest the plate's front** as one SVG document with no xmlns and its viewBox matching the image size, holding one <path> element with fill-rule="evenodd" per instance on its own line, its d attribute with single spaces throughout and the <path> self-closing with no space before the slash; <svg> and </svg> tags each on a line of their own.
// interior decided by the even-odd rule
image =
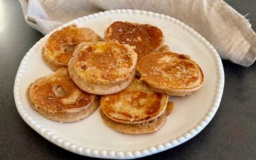
<svg viewBox="0 0 256 160">
<path fill-rule="evenodd" d="M 128 88 L 100 99 L 102 112 L 115 122 L 141 124 L 161 116 L 166 109 L 168 95 L 150 90 L 135 79 Z"/>
</svg>

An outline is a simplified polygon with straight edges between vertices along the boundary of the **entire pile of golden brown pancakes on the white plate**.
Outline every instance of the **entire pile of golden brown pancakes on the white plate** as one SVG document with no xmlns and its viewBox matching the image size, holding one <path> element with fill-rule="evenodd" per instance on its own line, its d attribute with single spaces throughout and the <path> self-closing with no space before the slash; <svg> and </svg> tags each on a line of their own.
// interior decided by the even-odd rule
<svg viewBox="0 0 256 160">
<path fill-rule="evenodd" d="M 51 120 L 75 122 L 100 106 L 104 124 L 115 131 L 157 131 L 173 109 L 168 95 L 191 95 L 204 83 L 199 65 L 168 51 L 163 40 L 161 29 L 130 22 L 111 24 L 104 40 L 76 25 L 52 33 L 42 54 L 56 72 L 29 86 L 31 107 Z"/>
</svg>

